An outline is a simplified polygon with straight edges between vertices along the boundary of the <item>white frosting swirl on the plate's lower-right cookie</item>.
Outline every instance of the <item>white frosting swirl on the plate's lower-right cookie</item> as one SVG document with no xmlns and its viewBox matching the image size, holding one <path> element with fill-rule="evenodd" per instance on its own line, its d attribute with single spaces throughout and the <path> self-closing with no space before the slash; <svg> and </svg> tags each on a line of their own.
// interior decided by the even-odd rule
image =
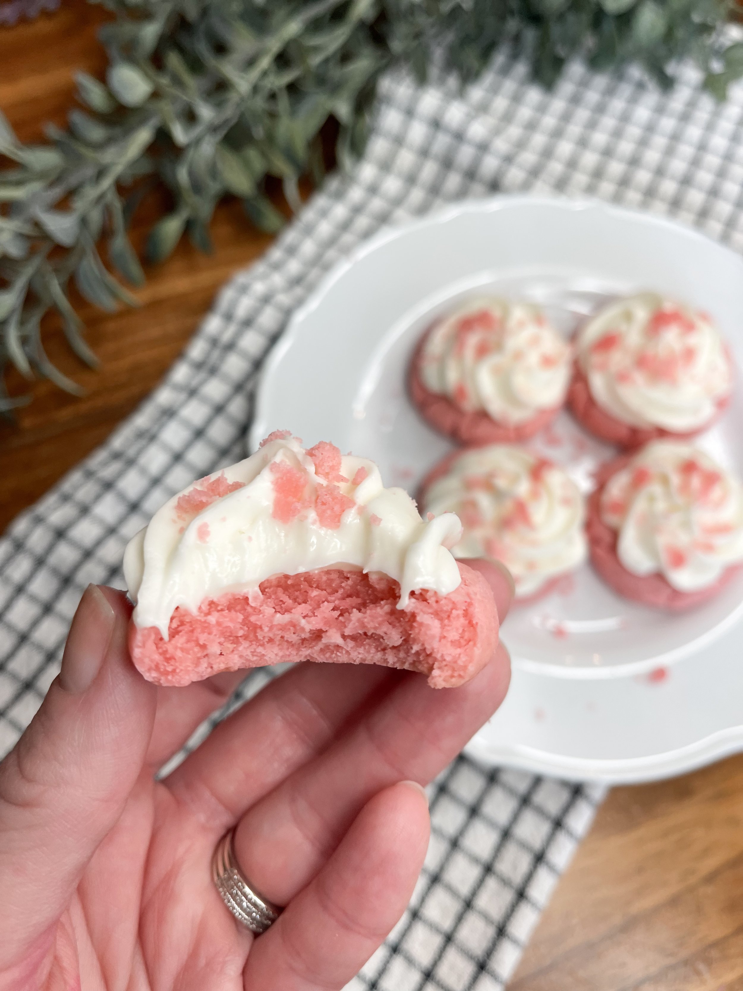
<svg viewBox="0 0 743 991">
<path fill-rule="evenodd" d="M 600 513 L 627 571 L 660 573 L 679 592 L 714 585 L 743 561 L 743 485 L 690 444 L 646 445 L 608 480 Z"/>
</svg>

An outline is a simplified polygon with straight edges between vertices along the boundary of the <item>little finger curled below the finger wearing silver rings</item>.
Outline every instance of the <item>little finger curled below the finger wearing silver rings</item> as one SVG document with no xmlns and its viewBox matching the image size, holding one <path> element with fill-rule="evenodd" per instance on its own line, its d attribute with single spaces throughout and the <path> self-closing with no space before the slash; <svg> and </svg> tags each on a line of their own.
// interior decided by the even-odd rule
<svg viewBox="0 0 743 991">
<path fill-rule="evenodd" d="M 428 834 L 420 789 L 402 782 L 374 796 L 317 877 L 253 944 L 247 991 L 340 991 L 404 912 Z"/>
</svg>

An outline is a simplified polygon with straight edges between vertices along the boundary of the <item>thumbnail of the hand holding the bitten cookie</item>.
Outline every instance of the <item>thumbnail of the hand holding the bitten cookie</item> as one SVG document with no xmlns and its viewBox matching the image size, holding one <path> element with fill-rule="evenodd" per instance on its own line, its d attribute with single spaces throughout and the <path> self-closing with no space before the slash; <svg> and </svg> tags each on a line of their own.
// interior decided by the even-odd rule
<svg viewBox="0 0 743 991">
<path fill-rule="evenodd" d="M 89 585 L 72 617 L 62 654 L 59 684 L 80 695 L 93 684 L 111 642 L 116 615 L 97 585 Z"/>
</svg>

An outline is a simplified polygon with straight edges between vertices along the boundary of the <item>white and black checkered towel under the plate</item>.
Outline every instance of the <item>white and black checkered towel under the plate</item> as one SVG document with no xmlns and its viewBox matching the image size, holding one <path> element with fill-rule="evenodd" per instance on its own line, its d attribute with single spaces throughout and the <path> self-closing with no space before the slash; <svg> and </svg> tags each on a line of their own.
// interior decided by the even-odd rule
<svg viewBox="0 0 743 991">
<path fill-rule="evenodd" d="M 326 183 L 219 294 L 164 384 L 12 524 L 0 541 L 0 752 L 56 674 L 87 583 L 121 582 L 127 539 L 162 501 L 246 455 L 267 348 L 320 277 L 380 226 L 495 190 L 559 191 L 672 214 L 743 246 L 743 89 L 718 105 L 692 69 L 670 94 L 635 71 L 575 65 L 552 93 L 527 75 L 500 58 L 464 93 L 452 81 L 420 89 L 386 78 L 353 175 Z M 600 796 L 457 760 L 432 790 L 433 838 L 411 907 L 349 987 L 502 988 Z"/>
</svg>

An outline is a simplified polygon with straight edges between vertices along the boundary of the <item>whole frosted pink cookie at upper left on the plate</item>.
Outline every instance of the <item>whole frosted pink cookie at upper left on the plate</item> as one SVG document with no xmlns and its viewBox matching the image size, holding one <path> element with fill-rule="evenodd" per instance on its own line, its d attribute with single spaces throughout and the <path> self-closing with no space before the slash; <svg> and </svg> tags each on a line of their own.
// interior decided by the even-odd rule
<svg viewBox="0 0 743 991">
<path fill-rule="evenodd" d="M 472 299 L 418 344 L 410 395 L 432 426 L 460 443 L 515 443 L 558 413 L 571 362 L 570 345 L 538 306 Z"/>
</svg>

